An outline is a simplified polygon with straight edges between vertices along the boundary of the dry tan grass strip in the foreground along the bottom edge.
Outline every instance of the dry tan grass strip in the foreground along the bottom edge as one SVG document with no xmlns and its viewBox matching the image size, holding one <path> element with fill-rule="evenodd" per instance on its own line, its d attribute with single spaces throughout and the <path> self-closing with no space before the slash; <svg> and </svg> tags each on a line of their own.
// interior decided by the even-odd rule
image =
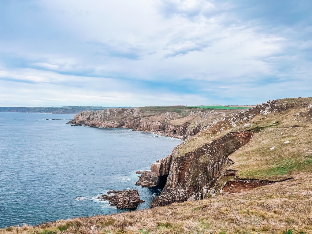
<svg viewBox="0 0 312 234">
<path fill-rule="evenodd" d="M 19 234 L 53 233 L 312 233 L 312 175 L 244 193 L 148 210 L 18 227 Z M 16 227 L 0 234 L 16 234 Z"/>
</svg>

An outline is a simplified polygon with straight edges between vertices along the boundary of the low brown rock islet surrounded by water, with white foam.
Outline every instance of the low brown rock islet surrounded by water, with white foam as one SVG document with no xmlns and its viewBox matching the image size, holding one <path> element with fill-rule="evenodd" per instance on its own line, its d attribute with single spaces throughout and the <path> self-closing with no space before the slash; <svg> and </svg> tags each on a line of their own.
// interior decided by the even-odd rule
<svg viewBox="0 0 312 234">
<path fill-rule="evenodd" d="M 99 198 L 109 201 L 110 205 L 116 206 L 117 209 L 135 209 L 141 202 L 144 202 L 140 200 L 139 191 L 136 189 L 110 190 L 107 194 L 100 195 Z"/>
</svg>

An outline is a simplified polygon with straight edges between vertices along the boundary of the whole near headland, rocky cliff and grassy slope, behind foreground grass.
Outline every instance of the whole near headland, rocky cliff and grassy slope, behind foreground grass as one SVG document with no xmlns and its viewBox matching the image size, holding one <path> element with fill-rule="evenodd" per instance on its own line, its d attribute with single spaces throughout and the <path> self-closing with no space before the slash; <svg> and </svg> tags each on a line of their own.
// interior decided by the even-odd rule
<svg viewBox="0 0 312 234">
<path fill-rule="evenodd" d="M 151 172 L 137 172 L 142 174 L 137 185 L 163 188 L 153 208 L 291 179 L 312 160 L 311 102 L 270 100 L 218 119 L 153 163 Z M 298 144 L 305 145 L 300 154 Z"/>
</svg>

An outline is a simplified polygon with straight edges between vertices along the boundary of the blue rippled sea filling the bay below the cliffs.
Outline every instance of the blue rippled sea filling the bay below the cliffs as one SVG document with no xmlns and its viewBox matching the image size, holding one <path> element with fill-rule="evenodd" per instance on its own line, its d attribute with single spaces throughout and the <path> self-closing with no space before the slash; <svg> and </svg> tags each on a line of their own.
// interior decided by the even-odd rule
<svg viewBox="0 0 312 234">
<path fill-rule="evenodd" d="M 155 193 L 135 172 L 181 141 L 66 124 L 73 117 L 0 112 L 0 227 L 122 212 L 96 199 L 110 189 L 138 189 L 138 209 L 149 208 Z"/>
</svg>

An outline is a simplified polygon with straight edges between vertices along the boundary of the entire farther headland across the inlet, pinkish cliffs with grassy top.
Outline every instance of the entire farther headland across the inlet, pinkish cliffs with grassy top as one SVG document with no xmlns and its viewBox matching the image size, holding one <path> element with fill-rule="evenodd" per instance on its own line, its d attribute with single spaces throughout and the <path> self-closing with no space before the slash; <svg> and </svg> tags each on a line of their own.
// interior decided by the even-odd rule
<svg viewBox="0 0 312 234">
<path fill-rule="evenodd" d="M 169 112 L 166 112 L 168 111 Z M 199 108 L 116 108 L 102 111 L 84 111 L 77 114 L 67 124 L 85 125 L 105 128 L 131 128 L 136 131 L 155 132 L 164 136 L 186 139 L 196 135 L 212 121 L 226 113 L 238 110 L 222 110 L 222 112 Z"/>
</svg>

